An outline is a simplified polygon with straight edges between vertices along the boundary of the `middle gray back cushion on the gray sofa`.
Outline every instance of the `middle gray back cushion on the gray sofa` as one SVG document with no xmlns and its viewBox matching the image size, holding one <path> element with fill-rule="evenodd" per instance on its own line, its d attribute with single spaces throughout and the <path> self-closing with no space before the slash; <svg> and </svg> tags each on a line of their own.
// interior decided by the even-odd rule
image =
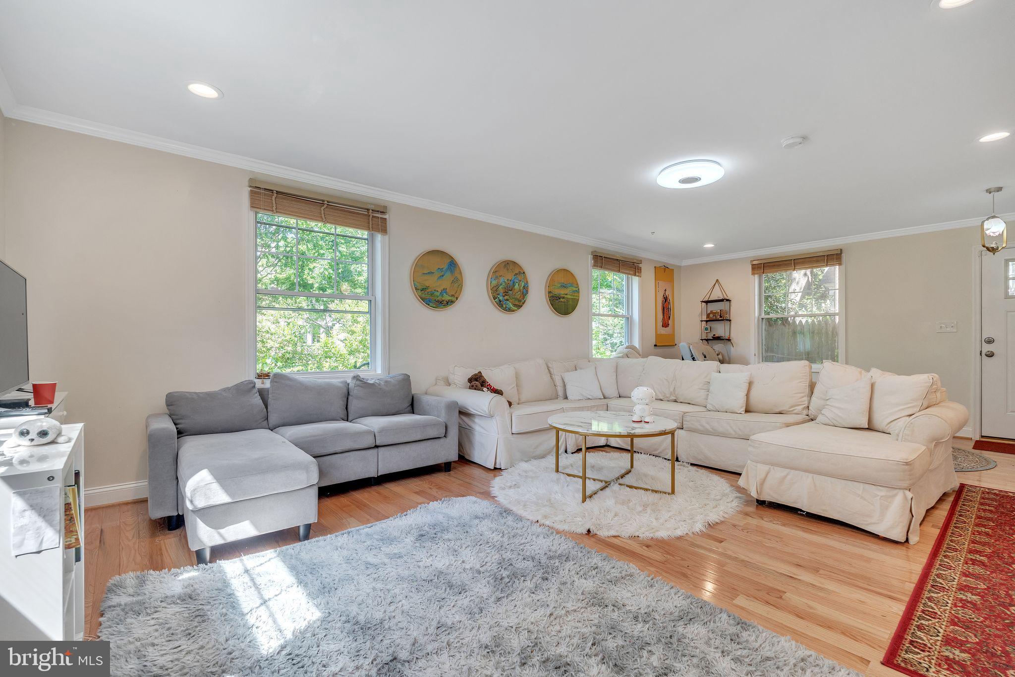
<svg viewBox="0 0 1015 677">
<path fill-rule="evenodd" d="M 344 421 L 349 397 L 346 381 L 273 374 L 268 394 L 268 427 L 318 421 Z"/>
</svg>

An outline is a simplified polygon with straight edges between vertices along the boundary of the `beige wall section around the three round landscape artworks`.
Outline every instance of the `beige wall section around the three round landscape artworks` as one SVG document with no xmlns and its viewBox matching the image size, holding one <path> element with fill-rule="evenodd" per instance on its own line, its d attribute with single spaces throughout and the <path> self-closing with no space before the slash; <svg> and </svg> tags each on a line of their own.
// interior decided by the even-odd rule
<svg viewBox="0 0 1015 677">
<path fill-rule="evenodd" d="M 407 371 L 416 391 L 426 390 L 452 364 L 496 365 L 542 356 L 589 354 L 589 254 L 592 248 L 435 211 L 390 206 L 390 371 Z M 461 299 L 446 311 L 420 303 L 409 268 L 428 250 L 446 249 L 465 273 Z M 490 302 L 484 281 L 500 259 L 514 259 L 529 276 L 529 299 L 514 314 Z M 546 302 L 547 276 L 568 268 L 582 285 L 578 310 L 566 318 Z"/>
</svg>

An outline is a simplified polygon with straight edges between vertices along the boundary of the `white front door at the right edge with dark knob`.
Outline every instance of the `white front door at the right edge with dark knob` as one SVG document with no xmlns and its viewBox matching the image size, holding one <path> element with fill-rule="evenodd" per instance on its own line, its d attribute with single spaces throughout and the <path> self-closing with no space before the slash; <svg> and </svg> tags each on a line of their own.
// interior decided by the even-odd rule
<svg viewBox="0 0 1015 677">
<path fill-rule="evenodd" d="M 1015 439 L 1015 249 L 980 261 L 982 434 Z"/>
</svg>

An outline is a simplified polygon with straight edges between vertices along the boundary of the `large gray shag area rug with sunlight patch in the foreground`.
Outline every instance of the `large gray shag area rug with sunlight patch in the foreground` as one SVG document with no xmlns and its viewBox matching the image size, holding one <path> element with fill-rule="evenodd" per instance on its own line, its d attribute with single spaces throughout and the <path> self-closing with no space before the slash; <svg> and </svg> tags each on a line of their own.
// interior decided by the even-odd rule
<svg viewBox="0 0 1015 677">
<path fill-rule="evenodd" d="M 855 675 L 499 505 L 446 498 L 110 581 L 114 675 Z"/>
</svg>

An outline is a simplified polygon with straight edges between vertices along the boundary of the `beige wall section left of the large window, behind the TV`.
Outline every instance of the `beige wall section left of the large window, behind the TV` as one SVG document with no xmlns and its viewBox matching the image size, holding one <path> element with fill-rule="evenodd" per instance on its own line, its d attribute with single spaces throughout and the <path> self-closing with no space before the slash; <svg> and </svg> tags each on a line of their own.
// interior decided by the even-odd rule
<svg viewBox="0 0 1015 677">
<path fill-rule="evenodd" d="M 31 377 L 86 422 L 86 486 L 146 479 L 144 417 L 165 393 L 250 376 L 247 173 L 5 124 L 5 258 L 28 279 Z"/>
</svg>

